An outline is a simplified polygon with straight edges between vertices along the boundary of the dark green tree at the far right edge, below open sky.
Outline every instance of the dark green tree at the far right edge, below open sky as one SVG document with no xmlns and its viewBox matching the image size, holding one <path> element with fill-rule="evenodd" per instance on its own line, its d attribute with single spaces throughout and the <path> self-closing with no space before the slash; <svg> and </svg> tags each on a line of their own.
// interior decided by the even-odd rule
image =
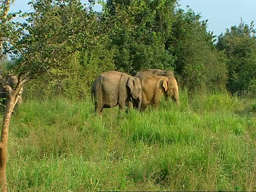
<svg viewBox="0 0 256 192">
<path fill-rule="evenodd" d="M 250 91 L 255 87 L 256 36 L 253 28 L 241 19 L 239 26 L 232 26 L 218 37 L 217 49 L 225 51 L 228 58 L 227 88 L 231 93 Z"/>
</svg>

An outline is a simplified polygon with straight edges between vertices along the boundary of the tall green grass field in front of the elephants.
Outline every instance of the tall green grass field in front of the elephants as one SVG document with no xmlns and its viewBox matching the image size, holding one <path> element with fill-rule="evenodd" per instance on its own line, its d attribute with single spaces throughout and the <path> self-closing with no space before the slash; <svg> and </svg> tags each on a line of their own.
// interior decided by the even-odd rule
<svg viewBox="0 0 256 192">
<path fill-rule="evenodd" d="M 180 101 L 98 117 L 90 99 L 25 100 L 9 191 L 255 191 L 256 101 L 186 90 Z"/>
</svg>

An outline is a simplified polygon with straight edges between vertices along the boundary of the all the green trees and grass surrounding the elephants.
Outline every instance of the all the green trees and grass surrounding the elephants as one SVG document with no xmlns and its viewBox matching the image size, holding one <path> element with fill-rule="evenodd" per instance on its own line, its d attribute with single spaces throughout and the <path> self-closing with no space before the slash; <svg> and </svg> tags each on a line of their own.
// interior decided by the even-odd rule
<svg viewBox="0 0 256 192">
<path fill-rule="evenodd" d="M 178 0 L 102 1 L 100 13 L 94 1 L 35 0 L 27 13 L 8 13 L 4 2 L 0 84 L 20 75 L 14 102 L 27 83 L 10 130 L 3 119 L 9 191 L 256 190 L 253 21 L 215 37 Z M 179 109 L 168 101 L 95 116 L 96 76 L 145 68 L 174 71 Z"/>
</svg>

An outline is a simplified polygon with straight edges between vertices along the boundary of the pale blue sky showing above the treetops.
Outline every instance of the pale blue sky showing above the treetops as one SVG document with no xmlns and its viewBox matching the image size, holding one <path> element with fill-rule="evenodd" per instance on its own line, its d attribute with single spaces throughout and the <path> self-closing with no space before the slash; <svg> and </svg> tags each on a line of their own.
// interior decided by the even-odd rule
<svg viewBox="0 0 256 192">
<path fill-rule="evenodd" d="M 31 11 L 31 7 L 27 5 L 29 1 L 15 0 L 10 11 Z M 88 3 L 87 0 L 81 2 Z M 256 22 L 256 0 L 180 0 L 179 4 L 185 11 L 186 5 L 189 5 L 195 13 L 200 13 L 201 20 L 208 19 L 207 31 L 213 31 L 213 35 L 217 36 L 225 33 L 231 26 L 238 26 L 241 18 L 248 25 L 251 21 Z M 94 9 L 101 11 L 101 5 L 96 4 Z"/>
</svg>

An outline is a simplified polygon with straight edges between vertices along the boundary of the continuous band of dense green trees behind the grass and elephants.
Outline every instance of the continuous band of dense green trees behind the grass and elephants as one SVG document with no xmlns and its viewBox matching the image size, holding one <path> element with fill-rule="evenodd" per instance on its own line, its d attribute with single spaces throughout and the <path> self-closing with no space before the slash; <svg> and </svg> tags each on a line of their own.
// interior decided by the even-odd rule
<svg viewBox="0 0 256 192">
<path fill-rule="evenodd" d="M 37 96 L 84 98 L 103 71 L 134 75 L 145 68 L 174 70 L 190 90 L 204 85 L 255 93 L 253 22 L 241 21 L 216 38 L 207 20 L 180 9 L 178 0 L 109 0 L 100 13 L 93 3 L 37 0 L 30 2 L 33 12 L 10 13 L 0 35 L 12 60 L 3 55 L 2 70 L 40 75 L 25 90 Z M 13 22 L 17 15 L 26 21 Z"/>
</svg>

